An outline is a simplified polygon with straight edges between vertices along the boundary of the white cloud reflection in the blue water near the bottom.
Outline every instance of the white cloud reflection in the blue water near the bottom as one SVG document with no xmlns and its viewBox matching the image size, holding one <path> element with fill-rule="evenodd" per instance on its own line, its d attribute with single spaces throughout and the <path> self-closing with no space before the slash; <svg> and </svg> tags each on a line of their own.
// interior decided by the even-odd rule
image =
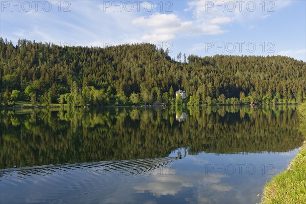
<svg viewBox="0 0 306 204">
<path fill-rule="evenodd" d="M 146 177 L 145 183 L 134 186 L 134 189 L 138 193 L 150 192 L 156 197 L 161 197 L 162 195 L 174 196 L 182 191 L 184 187 L 192 187 L 196 188 L 194 191 L 196 195 L 194 195 L 194 197 L 199 198 L 198 201 L 200 202 L 207 202 L 209 199 L 202 198 L 202 193 L 197 193 L 199 189 L 205 190 L 205 194 L 211 195 L 227 192 L 233 189 L 232 186 L 218 184 L 221 182 L 222 178 L 227 177 L 226 175 L 195 173 L 188 177 L 186 175 L 177 175 L 174 170 L 172 173 L 172 175 L 160 175 L 157 173 L 148 176 Z"/>
</svg>

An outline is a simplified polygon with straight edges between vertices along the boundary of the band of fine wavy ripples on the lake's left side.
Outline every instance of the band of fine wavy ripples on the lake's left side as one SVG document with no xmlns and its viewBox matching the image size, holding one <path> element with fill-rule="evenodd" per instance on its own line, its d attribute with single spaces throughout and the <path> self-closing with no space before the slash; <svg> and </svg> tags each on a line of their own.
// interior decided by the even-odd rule
<svg viewBox="0 0 306 204">
<path fill-rule="evenodd" d="M 122 161 L 100 161 L 75 164 L 43 165 L 22 168 L 7 168 L 0 170 L 0 177 L 17 175 L 23 179 L 27 176 L 70 174 L 71 171 L 88 171 L 102 174 L 140 175 L 150 174 L 153 170 L 165 166 L 179 159 L 178 157 L 165 157 L 155 159 L 136 159 Z M 2 179 L 1 179 L 2 180 Z"/>
</svg>

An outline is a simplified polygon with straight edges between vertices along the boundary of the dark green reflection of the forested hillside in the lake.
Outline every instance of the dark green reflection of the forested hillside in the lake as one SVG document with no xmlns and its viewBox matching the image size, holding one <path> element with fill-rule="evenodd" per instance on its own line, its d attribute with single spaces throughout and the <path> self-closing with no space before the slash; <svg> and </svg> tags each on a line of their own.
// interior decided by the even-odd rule
<svg viewBox="0 0 306 204">
<path fill-rule="evenodd" d="M 2 110 L 2 167 L 160 158 L 189 154 L 288 151 L 303 137 L 295 107 L 174 107 Z"/>
</svg>

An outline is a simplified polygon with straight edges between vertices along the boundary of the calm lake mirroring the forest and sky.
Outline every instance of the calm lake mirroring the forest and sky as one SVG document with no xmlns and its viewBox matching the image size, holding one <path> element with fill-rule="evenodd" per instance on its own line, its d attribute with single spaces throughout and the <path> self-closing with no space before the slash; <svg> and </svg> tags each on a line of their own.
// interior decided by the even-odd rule
<svg viewBox="0 0 306 204">
<path fill-rule="evenodd" d="M 1 203 L 256 203 L 295 106 L 0 110 Z"/>
</svg>

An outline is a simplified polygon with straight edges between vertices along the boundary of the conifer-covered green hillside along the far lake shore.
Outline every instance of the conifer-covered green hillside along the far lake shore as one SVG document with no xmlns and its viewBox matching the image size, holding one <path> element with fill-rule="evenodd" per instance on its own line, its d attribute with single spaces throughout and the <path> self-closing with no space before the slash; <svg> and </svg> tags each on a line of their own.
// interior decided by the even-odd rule
<svg viewBox="0 0 306 204">
<path fill-rule="evenodd" d="M 175 104 L 182 89 L 189 105 L 301 103 L 306 63 L 273 56 L 188 56 L 172 60 L 155 45 L 106 48 L 57 46 L 0 38 L 2 105 L 31 101 L 48 106 Z"/>
</svg>

